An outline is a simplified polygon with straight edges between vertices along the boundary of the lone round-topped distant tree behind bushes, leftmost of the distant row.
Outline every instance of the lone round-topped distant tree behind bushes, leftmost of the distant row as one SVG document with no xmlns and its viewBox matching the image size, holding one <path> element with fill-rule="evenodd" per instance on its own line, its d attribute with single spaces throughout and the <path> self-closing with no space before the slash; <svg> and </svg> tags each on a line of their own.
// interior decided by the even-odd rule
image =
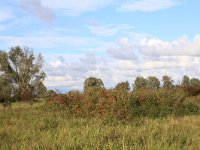
<svg viewBox="0 0 200 150">
<path fill-rule="evenodd" d="M 89 77 L 84 82 L 84 91 L 89 88 L 104 88 L 104 83 L 101 79 Z"/>
</svg>

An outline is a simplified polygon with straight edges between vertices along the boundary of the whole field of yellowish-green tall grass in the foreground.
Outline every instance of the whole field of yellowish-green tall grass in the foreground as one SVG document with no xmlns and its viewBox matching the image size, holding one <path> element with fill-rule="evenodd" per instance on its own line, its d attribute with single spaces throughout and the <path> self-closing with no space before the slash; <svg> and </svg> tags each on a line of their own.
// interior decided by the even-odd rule
<svg viewBox="0 0 200 150">
<path fill-rule="evenodd" d="M 41 105 L 0 108 L 0 149 L 200 149 L 200 116 L 120 122 L 73 118 Z"/>
</svg>

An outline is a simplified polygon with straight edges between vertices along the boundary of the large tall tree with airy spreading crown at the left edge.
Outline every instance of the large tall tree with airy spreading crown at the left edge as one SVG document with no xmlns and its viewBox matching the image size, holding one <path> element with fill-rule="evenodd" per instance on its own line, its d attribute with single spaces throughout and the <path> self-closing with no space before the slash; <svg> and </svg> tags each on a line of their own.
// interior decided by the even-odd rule
<svg viewBox="0 0 200 150">
<path fill-rule="evenodd" d="M 34 56 L 28 47 L 12 47 L 8 53 L 0 51 L 2 84 L 9 84 L 12 95 L 17 100 L 32 100 L 40 93 L 38 90 L 41 89 L 46 76 L 41 71 L 42 64 L 41 54 Z"/>
</svg>

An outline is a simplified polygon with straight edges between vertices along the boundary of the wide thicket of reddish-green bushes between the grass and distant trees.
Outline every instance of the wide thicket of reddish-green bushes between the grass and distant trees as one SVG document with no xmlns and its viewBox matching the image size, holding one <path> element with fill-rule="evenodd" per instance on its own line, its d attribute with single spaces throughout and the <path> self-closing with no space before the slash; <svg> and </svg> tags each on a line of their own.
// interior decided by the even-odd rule
<svg viewBox="0 0 200 150">
<path fill-rule="evenodd" d="M 128 86 L 127 82 L 122 82 L 114 89 L 93 86 L 84 92 L 54 93 L 48 104 L 56 109 L 64 109 L 73 116 L 81 117 L 110 116 L 128 119 L 200 113 L 199 106 L 188 99 L 188 93 L 181 86 L 174 88 L 147 86 L 133 91 L 130 91 Z"/>
</svg>

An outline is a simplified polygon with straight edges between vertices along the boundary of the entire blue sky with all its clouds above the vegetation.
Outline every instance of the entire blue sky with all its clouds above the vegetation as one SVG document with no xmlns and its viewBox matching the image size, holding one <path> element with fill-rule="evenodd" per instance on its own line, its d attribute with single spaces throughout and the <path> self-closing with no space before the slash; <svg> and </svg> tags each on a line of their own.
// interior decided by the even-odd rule
<svg viewBox="0 0 200 150">
<path fill-rule="evenodd" d="M 0 49 L 44 57 L 48 88 L 200 78 L 199 0 L 0 0 Z"/>
</svg>

